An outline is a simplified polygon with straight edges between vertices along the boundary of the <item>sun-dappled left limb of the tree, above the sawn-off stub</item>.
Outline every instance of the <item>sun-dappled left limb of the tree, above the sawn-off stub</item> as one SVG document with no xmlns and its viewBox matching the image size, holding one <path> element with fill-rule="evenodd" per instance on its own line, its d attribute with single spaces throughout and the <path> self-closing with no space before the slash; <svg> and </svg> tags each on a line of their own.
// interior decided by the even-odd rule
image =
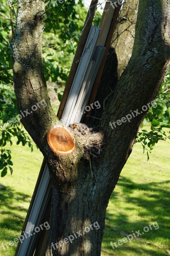
<svg viewBox="0 0 170 256">
<path fill-rule="evenodd" d="M 30 113 L 21 122 L 42 151 L 47 131 L 53 123 L 59 123 L 51 108 L 43 74 L 41 45 L 44 3 L 41 0 L 35 1 L 32 9 L 31 3 L 19 0 L 18 6 L 16 35 L 11 41 L 14 87 L 20 111 L 28 110 Z M 42 100 L 46 102 L 46 107 L 40 105 Z M 37 106 L 36 111 L 32 111 L 34 105 Z"/>
</svg>

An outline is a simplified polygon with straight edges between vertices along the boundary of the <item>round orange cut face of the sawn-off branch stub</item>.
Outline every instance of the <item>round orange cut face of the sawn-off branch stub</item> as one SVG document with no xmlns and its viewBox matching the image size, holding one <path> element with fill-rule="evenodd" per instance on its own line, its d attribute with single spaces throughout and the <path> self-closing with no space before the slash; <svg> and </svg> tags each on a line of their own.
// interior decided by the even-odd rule
<svg viewBox="0 0 170 256">
<path fill-rule="evenodd" d="M 70 155 L 75 151 L 75 139 L 63 125 L 52 126 L 47 133 L 49 147 L 58 155 Z"/>
</svg>

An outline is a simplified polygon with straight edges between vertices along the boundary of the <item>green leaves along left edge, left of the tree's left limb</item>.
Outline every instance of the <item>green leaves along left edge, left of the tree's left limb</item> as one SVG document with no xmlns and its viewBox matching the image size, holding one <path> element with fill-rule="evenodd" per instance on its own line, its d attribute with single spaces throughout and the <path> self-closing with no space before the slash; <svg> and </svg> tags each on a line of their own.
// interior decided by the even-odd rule
<svg viewBox="0 0 170 256">
<path fill-rule="evenodd" d="M 11 122 L 19 112 L 12 85 L 9 8 L 4 0 L 0 6 L 0 14 L 3 17 L 0 20 L 0 170 L 2 170 L 1 177 L 4 177 L 8 169 L 12 174 L 11 151 L 6 149 L 8 143 L 12 145 L 12 137 L 17 137 L 17 144 L 28 144 L 30 148 L 32 144 L 19 120 Z"/>
</svg>

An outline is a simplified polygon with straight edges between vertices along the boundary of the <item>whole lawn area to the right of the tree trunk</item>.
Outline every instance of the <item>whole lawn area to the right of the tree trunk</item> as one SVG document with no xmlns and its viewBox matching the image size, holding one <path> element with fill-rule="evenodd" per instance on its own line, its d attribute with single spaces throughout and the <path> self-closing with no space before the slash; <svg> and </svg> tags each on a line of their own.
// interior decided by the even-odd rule
<svg viewBox="0 0 170 256">
<path fill-rule="evenodd" d="M 166 250 L 170 250 L 169 140 L 156 145 L 148 162 L 141 146 L 134 146 L 109 200 L 106 215 L 102 256 L 167 255 Z M 145 233 L 144 227 L 156 221 L 159 228 L 152 227 Z M 114 246 L 114 242 L 138 230 L 144 234 L 112 249 L 111 241 Z"/>
</svg>

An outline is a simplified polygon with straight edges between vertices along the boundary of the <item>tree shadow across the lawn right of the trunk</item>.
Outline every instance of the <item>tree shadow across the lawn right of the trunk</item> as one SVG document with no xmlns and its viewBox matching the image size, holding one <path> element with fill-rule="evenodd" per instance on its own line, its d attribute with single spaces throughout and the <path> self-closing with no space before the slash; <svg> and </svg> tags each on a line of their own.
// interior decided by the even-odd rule
<svg viewBox="0 0 170 256">
<path fill-rule="evenodd" d="M 112 248 L 111 241 L 114 243 L 123 239 L 132 234 L 132 231 L 140 230 L 142 233 L 144 227 L 155 222 L 159 227 L 157 229 L 153 227 L 152 230 L 134 238 L 132 242 L 118 245 L 108 255 L 165 256 L 166 250 L 170 249 L 170 186 L 167 186 L 170 180 L 152 182 L 150 179 L 144 179 L 144 182 L 147 183 L 134 183 L 126 177 L 119 179 L 117 185 L 119 189 L 112 192 L 111 204 L 106 213 L 103 252 Z M 121 192 L 117 192 L 120 189 Z M 132 217 L 133 212 L 137 215 L 136 219 Z M 166 248 L 160 245 L 161 241 L 162 244 L 166 244 Z"/>
</svg>

